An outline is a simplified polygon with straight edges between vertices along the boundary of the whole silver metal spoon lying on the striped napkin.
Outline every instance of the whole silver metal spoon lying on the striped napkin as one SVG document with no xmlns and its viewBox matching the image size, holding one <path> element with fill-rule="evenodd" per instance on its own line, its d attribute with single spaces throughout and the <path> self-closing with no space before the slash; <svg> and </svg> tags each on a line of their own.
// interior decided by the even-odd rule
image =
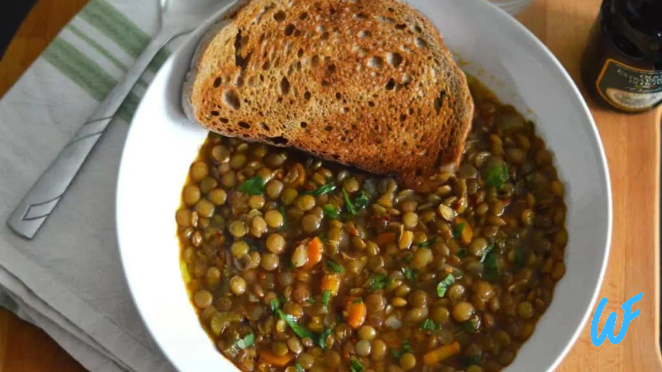
<svg viewBox="0 0 662 372">
<path fill-rule="evenodd" d="M 7 224 L 14 232 L 28 239 L 34 237 L 156 53 L 169 40 L 190 32 L 227 3 L 222 0 L 160 0 L 160 31 L 9 216 Z"/>
</svg>

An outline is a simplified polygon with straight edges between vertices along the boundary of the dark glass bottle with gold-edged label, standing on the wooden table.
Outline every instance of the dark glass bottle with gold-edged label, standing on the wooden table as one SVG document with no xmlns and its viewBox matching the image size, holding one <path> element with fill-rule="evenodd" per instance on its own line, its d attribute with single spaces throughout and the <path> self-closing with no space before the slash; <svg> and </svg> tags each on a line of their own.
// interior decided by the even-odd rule
<svg viewBox="0 0 662 372">
<path fill-rule="evenodd" d="M 662 103 L 662 0 L 604 0 L 582 58 L 603 107 L 627 113 Z"/>
</svg>

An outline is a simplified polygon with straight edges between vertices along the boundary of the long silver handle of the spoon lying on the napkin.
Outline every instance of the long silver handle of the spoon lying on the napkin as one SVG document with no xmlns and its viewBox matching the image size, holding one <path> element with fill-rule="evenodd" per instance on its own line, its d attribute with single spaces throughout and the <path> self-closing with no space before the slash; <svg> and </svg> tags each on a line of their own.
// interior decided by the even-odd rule
<svg viewBox="0 0 662 372">
<path fill-rule="evenodd" d="M 14 232 L 28 239 L 34 237 L 64 196 L 81 165 L 101 138 L 109 122 L 113 120 L 113 116 L 142 72 L 171 38 L 171 34 L 160 33 L 150 42 L 124 78 L 117 83 L 48 169 L 32 185 L 7 220 L 7 224 Z"/>
</svg>

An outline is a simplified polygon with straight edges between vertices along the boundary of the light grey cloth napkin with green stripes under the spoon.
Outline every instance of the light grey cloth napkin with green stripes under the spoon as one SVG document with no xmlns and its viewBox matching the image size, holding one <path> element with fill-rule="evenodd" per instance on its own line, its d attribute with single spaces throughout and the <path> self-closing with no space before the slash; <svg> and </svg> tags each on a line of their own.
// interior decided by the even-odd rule
<svg viewBox="0 0 662 372">
<path fill-rule="evenodd" d="M 174 371 L 134 308 L 115 233 L 128 121 L 167 52 L 144 73 L 36 238 L 19 238 L 4 222 L 157 24 L 157 0 L 93 0 L 0 101 L 0 304 L 93 372 Z"/>
</svg>

